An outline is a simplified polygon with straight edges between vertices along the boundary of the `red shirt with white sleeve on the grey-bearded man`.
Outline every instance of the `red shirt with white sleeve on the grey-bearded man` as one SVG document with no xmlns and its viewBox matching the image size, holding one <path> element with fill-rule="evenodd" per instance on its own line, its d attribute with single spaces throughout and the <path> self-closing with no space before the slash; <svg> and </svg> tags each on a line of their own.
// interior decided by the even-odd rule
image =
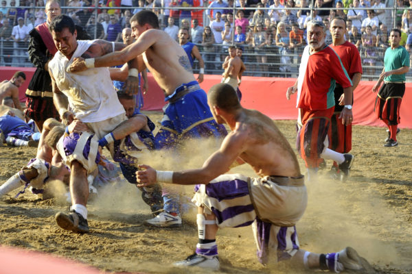
<svg viewBox="0 0 412 274">
<path fill-rule="evenodd" d="M 341 58 L 330 47 L 309 54 L 309 46 L 304 50 L 299 68 L 301 92 L 298 108 L 327 110 L 335 105 L 334 88 L 336 82 L 343 88 L 352 86 Z M 301 75 L 303 74 L 303 75 Z"/>
</svg>

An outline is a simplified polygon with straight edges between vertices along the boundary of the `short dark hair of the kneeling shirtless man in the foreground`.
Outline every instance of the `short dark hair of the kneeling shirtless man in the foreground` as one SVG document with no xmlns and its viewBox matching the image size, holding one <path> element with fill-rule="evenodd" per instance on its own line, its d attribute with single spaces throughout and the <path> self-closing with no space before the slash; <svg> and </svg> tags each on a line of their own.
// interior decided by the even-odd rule
<svg viewBox="0 0 412 274">
<path fill-rule="evenodd" d="M 211 105 L 216 105 L 222 110 L 236 110 L 240 107 L 236 90 L 229 84 L 220 83 L 212 86 L 207 93 Z"/>
</svg>

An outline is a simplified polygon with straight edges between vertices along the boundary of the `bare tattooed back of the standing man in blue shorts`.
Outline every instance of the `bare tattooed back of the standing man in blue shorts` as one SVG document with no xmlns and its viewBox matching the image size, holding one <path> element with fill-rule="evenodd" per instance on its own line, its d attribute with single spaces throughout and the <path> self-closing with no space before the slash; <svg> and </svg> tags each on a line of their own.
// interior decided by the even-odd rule
<svg viewBox="0 0 412 274">
<path fill-rule="evenodd" d="M 148 29 L 137 42 L 143 39 L 155 40 L 143 53 L 144 63 L 167 95 L 181 84 L 195 81 L 185 51 L 168 34 L 159 29 Z"/>
</svg>

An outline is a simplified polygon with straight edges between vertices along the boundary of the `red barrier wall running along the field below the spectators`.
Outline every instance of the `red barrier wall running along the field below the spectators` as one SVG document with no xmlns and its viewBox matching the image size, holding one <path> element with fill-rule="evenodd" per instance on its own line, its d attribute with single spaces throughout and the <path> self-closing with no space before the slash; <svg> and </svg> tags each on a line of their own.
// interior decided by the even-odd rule
<svg viewBox="0 0 412 274">
<path fill-rule="evenodd" d="M 25 84 L 20 88 L 20 99 L 25 100 L 24 93 L 34 73 L 33 68 L 0 68 L 0 80 L 11 79 L 15 71 L 24 71 L 27 75 Z M 220 83 L 220 75 L 205 75 L 205 81 L 201 84 L 204 90 L 209 90 L 214 84 Z M 144 110 L 161 110 L 164 102 L 163 91 L 159 88 L 155 79 L 148 73 L 149 92 L 144 95 Z M 275 120 L 294 120 L 297 118 L 296 96 L 290 101 L 286 100 L 286 90 L 295 83 L 294 78 L 269 78 L 269 77 L 242 77 L 242 105 L 244 108 L 259 110 Z M 376 94 L 372 93 L 375 82 L 362 81 L 354 92 L 354 124 L 375 125 L 384 124 L 376 119 L 374 103 Z M 412 83 L 407 83 L 402 108 L 400 110 L 402 128 L 412 128 Z"/>
</svg>

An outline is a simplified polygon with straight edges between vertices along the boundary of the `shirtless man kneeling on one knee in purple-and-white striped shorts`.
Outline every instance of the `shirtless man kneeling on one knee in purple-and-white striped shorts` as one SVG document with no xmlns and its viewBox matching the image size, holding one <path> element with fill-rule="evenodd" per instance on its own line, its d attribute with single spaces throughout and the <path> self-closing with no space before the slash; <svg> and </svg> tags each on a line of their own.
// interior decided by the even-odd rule
<svg viewBox="0 0 412 274">
<path fill-rule="evenodd" d="M 196 253 L 175 264 L 217 270 L 218 228 L 253 224 L 262 263 L 268 262 L 270 255 L 275 258 L 269 254 L 275 251 L 277 258 L 292 258 L 294 264 L 310 269 L 339 272 L 368 266 L 351 247 L 328 254 L 299 249 L 295 224 L 304 214 L 308 198 L 295 152 L 268 116 L 242 108 L 228 84 L 212 86 L 207 97 L 216 121 L 231 129 L 220 149 L 199 169 L 156 171 L 141 164 L 143 170 L 137 171 L 138 186 L 198 184 L 192 200 L 198 206 Z M 223 175 L 244 162 L 258 177 Z"/>
</svg>

